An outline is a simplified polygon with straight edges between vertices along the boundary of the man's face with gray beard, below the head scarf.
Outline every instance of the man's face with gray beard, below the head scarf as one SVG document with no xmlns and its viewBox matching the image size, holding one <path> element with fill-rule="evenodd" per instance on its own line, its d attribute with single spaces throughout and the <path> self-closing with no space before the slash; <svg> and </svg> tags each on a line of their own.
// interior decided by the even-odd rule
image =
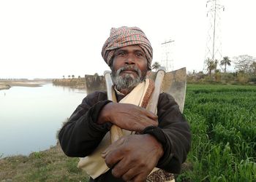
<svg viewBox="0 0 256 182">
<path fill-rule="evenodd" d="M 121 47 L 113 58 L 112 77 L 118 90 L 132 90 L 143 81 L 148 71 L 144 51 L 138 45 Z"/>
</svg>

